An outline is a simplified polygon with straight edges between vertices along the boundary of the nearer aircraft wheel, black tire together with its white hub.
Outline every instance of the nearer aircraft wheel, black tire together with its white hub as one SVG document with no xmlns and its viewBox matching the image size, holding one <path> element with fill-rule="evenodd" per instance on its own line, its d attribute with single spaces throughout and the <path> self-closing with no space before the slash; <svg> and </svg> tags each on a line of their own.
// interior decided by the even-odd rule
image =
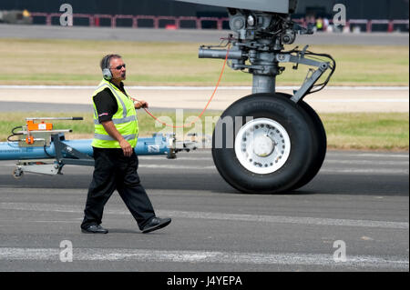
<svg viewBox="0 0 410 290">
<path fill-rule="evenodd" d="M 220 117 L 212 157 L 220 175 L 247 194 L 291 190 L 313 163 L 312 125 L 281 94 L 241 98 Z"/>
</svg>

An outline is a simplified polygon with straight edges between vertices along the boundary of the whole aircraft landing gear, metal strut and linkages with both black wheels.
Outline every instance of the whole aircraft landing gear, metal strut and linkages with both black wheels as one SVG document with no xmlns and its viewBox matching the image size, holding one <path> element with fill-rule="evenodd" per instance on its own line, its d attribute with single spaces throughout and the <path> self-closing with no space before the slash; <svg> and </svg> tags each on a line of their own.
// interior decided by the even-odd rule
<svg viewBox="0 0 410 290">
<path fill-rule="evenodd" d="M 285 51 L 296 35 L 313 34 L 312 27 L 292 21 L 291 2 L 287 3 L 289 15 L 244 10 L 245 4 L 255 2 L 228 8 L 236 35 L 224 38 L 220 45 L 200 46 L 200 58 L 225 59 L 233 70 L 253 76 L 253 95 L 231 105 L 216 125 L 214 163 L 220 175 L 242 192 L 292 191 L 308 184 L 323 165 L 326 133 L 303 98 L 329 83 L 336 62 L 332 55 L 308 50 L 308 45 Z M 285 71 L 284 64 L 292 64 L 294 70 L 308 66 L 302 86 L 293 95 L 276 93 L 276 77 Z"/>
</svg>

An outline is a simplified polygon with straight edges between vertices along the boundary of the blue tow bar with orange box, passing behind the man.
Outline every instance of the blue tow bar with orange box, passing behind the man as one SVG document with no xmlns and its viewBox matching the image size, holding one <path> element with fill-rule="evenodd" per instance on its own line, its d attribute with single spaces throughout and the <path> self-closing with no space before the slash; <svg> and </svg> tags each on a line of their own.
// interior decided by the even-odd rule
<svg viewBox="0 0 410 290">
<path fill-rule="evenodd" d="M 82 117 L 26 118 L 21 131 L 12 130 L 7 140 L 0 142 L 0 161 L 17 160 L 13 175 L 20 178 L 25 172 L 42 175 L 58 175 L 64 165 L 94 166 L 92 140 L 66 140 L 70 129 L 53 130 L 48 120 L 83 120 Z M 41 121 L 41 123 L 35 123 Z M 14 137 L 14 138 L 13 138 Z M 192 146 L 193 145 L 193 146 Z M 179 151 L 195 150 L 194 143 L 177 142 L 174 135 L 156 134 L 150 138 L 138 138 L 136 155 L 166 155 L 175 159 Z M 191 147 L 190 147 L 191 146 Z"/>
</svg>

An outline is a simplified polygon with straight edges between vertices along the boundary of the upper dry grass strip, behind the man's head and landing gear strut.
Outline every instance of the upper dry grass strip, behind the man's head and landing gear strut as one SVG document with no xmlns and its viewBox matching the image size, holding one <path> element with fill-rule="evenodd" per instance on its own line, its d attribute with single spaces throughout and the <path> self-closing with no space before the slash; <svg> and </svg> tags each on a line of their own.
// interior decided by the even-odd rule
<svg viewBox="0 0 410 290">
<path fill-rule="evenodd" d="M 128 65 L 127 85 L 215 85 L 223 62 L 199 59 L 199 45 L 1 39 L 0 84 L 96 85 L 100 58 L 116 52 Z M 409 84 L 408 46 L 312 45 L 310 50 L 336 60 L 330 85 Z M 278 85 L 301 85 L 307 73 L 303 66 L 294 71 L 285 65 Z M 251 85 L 251 75 L 227 67 L 221 85 Z"/>
</svg>

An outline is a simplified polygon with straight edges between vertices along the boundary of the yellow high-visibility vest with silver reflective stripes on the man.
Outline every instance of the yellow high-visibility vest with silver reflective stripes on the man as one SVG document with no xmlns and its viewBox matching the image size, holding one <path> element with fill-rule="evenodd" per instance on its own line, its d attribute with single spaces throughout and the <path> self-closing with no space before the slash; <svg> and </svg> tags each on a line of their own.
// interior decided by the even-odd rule
<svg viewBox="0 0 410 290">
<path fill-rule="evenodd" d="M 108 135 L 104 126 L 98 121 L 94 96 L 106 88 L 109 88 L 112 94 L 116 97 L 118 105 L 118 111 L 112 116 L 112 122 L 116 126 L 119 134 L 121 134 L 128 141 L 129 145 L 134 148 L 138 142 L 138 118 L 134 102 L 127 95 L 122 93 L 117 86 L 112 85 L 106 80 L 101 81 L 92 96 L 95 134 L 91 145 L 97 148 L 121 148 L 118 141 Z"/>
</svg>

